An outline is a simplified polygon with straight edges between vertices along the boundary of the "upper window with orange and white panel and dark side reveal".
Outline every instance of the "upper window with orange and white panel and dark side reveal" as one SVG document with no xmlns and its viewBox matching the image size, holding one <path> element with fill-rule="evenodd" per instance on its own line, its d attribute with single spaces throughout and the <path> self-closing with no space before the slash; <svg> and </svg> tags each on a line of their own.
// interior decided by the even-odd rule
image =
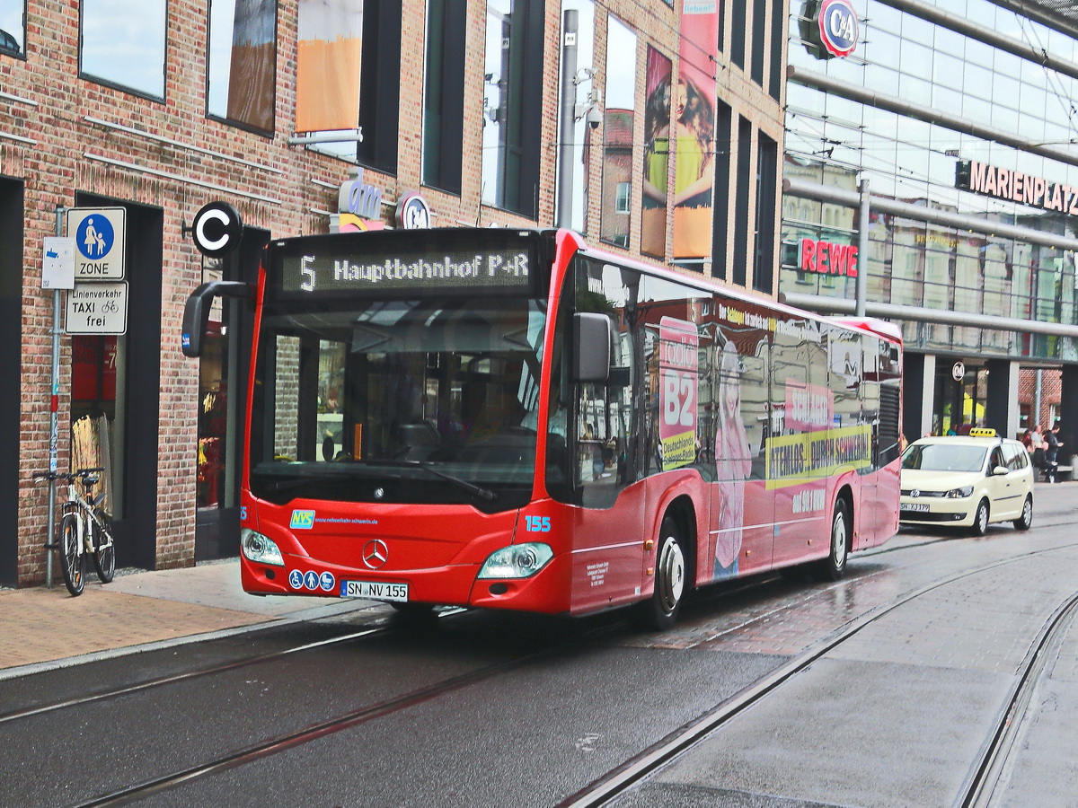
<svg viewBox="0 0 1078 808">
<path fill-rule="evenodd" d="M 401 4 L 300 0 L 295 129 L 336 135 L 314 151 L 397 169 Z M 356 135 L 362 128 L 362 139 Z"/>
</svg>

